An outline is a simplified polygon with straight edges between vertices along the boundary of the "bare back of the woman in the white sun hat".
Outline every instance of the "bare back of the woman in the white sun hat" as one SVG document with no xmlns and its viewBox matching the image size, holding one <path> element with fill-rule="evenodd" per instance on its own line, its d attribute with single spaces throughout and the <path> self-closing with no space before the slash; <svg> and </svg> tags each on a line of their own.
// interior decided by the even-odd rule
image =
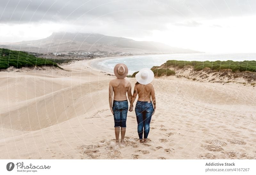
<svg viewBox="0 0 256 175">
<path fill-rule="evenodd" d="M 151 101 L 152 84 L 136 84 L 136 89 L 139 95 L 138 101 Z"/>
</svg>

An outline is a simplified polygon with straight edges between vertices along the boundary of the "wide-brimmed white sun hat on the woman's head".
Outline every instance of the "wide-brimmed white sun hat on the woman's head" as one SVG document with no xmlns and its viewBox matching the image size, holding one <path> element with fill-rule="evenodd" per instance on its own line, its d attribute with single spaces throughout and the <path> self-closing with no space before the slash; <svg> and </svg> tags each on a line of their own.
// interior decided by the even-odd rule
<svg viewBox="0 0 256 175">
<path fill-rule="evenodd" d="M 140 84 L 149 84 L 154 79 L 154 72 L 148 68 L 141 69 L 136 75 L 135 78 Z"/>
</svg>

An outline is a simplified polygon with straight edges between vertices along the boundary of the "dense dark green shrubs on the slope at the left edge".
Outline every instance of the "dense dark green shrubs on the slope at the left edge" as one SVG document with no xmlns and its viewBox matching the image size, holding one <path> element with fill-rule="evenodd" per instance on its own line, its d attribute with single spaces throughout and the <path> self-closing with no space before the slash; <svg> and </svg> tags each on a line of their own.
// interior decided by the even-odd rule
<svg viewBox="0 0 256 175">
<path fill-rule="evenodd" d="M 37 58 L 22 51 L 14 51 L 0 48 L 0 69 L 7 69 L 10 66 L 15 68 L 32 66 L 55 66 L 59 67 L 56 60 L 46 58 Z"/>
</svg>

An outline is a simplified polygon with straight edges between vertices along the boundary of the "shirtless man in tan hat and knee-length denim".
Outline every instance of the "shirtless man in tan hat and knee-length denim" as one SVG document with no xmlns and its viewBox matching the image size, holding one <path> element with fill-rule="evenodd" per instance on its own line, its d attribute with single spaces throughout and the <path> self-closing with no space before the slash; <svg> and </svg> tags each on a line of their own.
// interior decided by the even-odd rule
<svg viewBox="0 0 256 175">
<path fill-rule="evenodd" d="M 124 144 L 126 118 L 128 112 L 128 101 L 126 93 L 128 94 L 128 99 L 131 103 L 132 85 L 129 80 L 125 79 L 128 74 L 128 68 L 125 64 L 116 64 L 114 73 L 116 78 L 109 82 L 109 107 L 112 114 L 114 115 L 116 143 L 119 143 L 119 133 L 121 127 L 121 144 Z M 113 98 L 114 101 L 112 106 Z"/>
</svg>

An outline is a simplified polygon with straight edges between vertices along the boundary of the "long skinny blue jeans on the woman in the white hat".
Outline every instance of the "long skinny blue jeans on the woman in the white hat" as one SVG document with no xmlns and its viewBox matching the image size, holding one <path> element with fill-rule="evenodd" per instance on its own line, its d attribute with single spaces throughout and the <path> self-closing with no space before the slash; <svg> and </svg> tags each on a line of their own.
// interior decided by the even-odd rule
<svg viewBox="0 0 256 175">
<path fill-rule="evenodd" d="M 153 104 L 151 101 L 137 101 L 135 107 L 135 113 L 138 123 L 138 134 L 139 138 L 142 139 L 144 131 L 144 138 L 148 138 L 149 124 L 151 121 L 152 114 L 154 112 Z M 143 129 L 144 128 L 144 129 Z"/>
</svg>

